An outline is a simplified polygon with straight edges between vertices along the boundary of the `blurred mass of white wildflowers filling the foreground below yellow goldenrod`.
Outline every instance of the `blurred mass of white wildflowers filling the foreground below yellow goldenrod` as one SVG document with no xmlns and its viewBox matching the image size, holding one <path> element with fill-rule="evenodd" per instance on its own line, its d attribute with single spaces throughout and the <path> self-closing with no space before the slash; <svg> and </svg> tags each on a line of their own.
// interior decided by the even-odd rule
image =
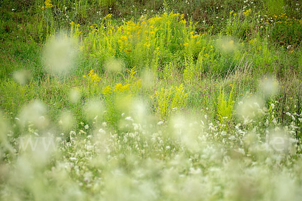
<svg viewBox="0 0 302 201">
<path fill-rule="evenodd" d="M 282 125 L 276 116 L 277 102 L 266 108 L 259 98 L 244 99 L 233 125 L 211 121 L 210 114 L 179 114 L 164 122 L 123 112 L 116 128 L 104 121 L 96 102 L 88 104 L 92 108 L 86 105 L 88 111 L 100 109 L 99 123 L 91 124 L 96 121 L 94 114 L 76 128 L 69 124 L 73 115 L 63 112 L 57 135 L 50 134 L 56 129 L 45 124 L 45 108 L 39 104 L 29 105 L 15 120 L 23 122 L 19 127 L 27 134 L 19 142 L 4 135 L 9 126 L 0 123 L 0 151 L 14 166 L 0 167 L 7 175 L 1 177 L 6 186 L 1 198 L 12 194 L 15 199 L 33 198 L 32 193 L 38 199 L 55 195 L 97 200 L 277 199 L 288 192 L 294 199 L 299 195 L 302 160 L 295 157 L 301 151 L 297 139 L 302 116 L 288 109 L 284 112 L 288 124 Z M 28 117 L 31 110 L 38 112 L 37 120 Z M 40 141 L 26 141 L 35 138 Z M 12 142 L 19 144 L 15 151 Z M 22 149 L 26 143 L 27 149 Z M 31 150 L 35 144 L 36 150 Z M 46 146 L 53 148 L 43 150 Z M 33 186 L 39 186 L 39 191 Z"/>
</svg>

